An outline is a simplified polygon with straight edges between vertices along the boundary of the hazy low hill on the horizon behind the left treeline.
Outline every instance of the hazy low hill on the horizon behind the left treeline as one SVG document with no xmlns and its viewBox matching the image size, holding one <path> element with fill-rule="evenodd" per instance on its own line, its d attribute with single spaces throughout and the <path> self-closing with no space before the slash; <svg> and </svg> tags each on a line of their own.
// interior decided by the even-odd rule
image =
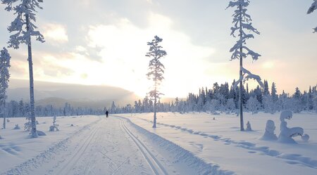
<svg viewBox="0 0 317 175">
<path fill-rule="evenodd" d="M 29 81 L 10 79 L 7 101 L 30 101 Z M 35 81 L 35 103 L 62 107 L 70 103 L 75 107 L 103 108 L 115 101 L 116 105 L 134 103 L 135 93 L 114 86 L 92 86 Z"/>
</svg>

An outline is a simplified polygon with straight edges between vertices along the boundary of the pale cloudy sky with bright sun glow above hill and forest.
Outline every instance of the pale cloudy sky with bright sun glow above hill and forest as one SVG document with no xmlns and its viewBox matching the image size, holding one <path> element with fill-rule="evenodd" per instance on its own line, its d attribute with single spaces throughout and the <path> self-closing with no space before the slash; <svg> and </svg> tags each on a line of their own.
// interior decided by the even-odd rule
<svg viewBox="0 0 317 175">
<path fill-rule="evenodd" d="M 185 97 L 200 87 L 239 77 L 239 61 L 230 61 L 234 9 L 224 0 L 44 0 L 37 27 L 46 42 L 32 41 L 34 77 L 39 81 L 110 85 L 145 96 L 149 50 L 157 35 L 168 53 L 161 92 Z M 244 59 L 244 67 L 294 93 L 317 84 L 317 12 L 306 14 L 313 1 L 251 0 L 248 13 L 260 35 L 247 46 L 261 54 Z M 6 27 L 13 13 L 0 5 L 0 46 L 7 46 Z M 28 79 L 27 48 L 9 48 L 11 77 Z M 249 86 L 256 83 L 249 81 Z M 36 84 L 35 84 L 36 89 Z"/>
</svg>

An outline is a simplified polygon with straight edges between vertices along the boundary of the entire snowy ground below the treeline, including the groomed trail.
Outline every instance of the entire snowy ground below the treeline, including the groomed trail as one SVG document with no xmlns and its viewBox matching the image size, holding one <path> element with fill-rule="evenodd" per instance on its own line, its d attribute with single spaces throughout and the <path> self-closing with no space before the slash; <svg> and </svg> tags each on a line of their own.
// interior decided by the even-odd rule
<svg viewBox="0 0 317 175">
<path fill-rule="evenodd" d="M 316 114 L 286 120 L 310 136 L 297 144 L 260 139 L 268 119 L 278 136 L 280 113 L 245 113 L 254 131 L 243 132 L 235 115 L 158 113 L 156 129 L 152 117 L 57 117 L 54 132 L 53 117 L 37 117 L 47 135 L 39 138 L 28 138 L 24 118 L 10 118 L 0 131 L 0 174 L 317 174 Z"/>
</svg>

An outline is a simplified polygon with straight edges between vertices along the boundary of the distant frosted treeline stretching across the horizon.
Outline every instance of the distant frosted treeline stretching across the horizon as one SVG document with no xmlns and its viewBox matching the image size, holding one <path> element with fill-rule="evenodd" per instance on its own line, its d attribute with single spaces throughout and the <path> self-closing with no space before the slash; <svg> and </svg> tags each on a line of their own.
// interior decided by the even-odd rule
<svg viewBox="0 0 317 175">
<path fill-rule="evenodd" d="M 249 90 L 248 84 L 243 87 L 242 99 L 245 110 L 249 112 L 270 112 L 280 110 L 292 110 L 301 112 L 303 110 L 317 112 L 317 90 L 316 86 L 310 86 L 309 91 L 303 93 L 294 89 L 294 93 L 289 94 L 282 91 L 280 95 L 276 93 L 276 86 L 273 82 L 271 90 L 268 82 L 264 80 L 264 88 L 259 86 Z M 170 103 L 157 104 L 159 112 L 237 112 L 239 103 L 239 86 L 235 86 L 235 80 L 229 86 L 225 84 L 213 84 L 211 89 L 207 87 L 199 89 L 199 93 L 189 93 L 185 100 L 175 98 Z M 143 100 L 135 101 L 133 105 L 116 105 L 115 102 L 108 108 L 93 109 L 73 107 L 66 103 L 63 108 L 55 108 L 53 105 L 37 105 L 35 107 L 36 116 L 73 116 L 73 115 L 104 115 L 106 110 L 110 114 L 117 113 L 140 113 L 153 112 L 154 103 L 145 97 Z M 6 103 L 7 117 L 27 117 L 30 115 L 30 104 L 21 101 L 10 101 Z"/>
</svg>

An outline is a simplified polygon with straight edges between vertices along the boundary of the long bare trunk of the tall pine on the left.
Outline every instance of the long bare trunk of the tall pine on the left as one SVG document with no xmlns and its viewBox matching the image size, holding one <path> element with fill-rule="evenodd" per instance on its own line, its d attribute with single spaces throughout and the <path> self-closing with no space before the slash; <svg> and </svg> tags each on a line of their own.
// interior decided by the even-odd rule
<svg viewBox="0 0 317 175">
<path fill-rule="evenodd" d="M 29 16 L 25 15 L 27 23 L 27 31 L 30 30 L 29 25 Z M 30 111 L 31 111 L 31 135 L 32 138 L 37 138 L 37 125 L 35 119 L 35 105 L 34 105 L 34 82 L 33 82 L 33 63 L 32 63 L 32 47 L 31 47 L 31 38 L 29 44 L 27 45 L 27 60 L 29 61 L 29 72 L 30 72 Z"/>
</svg>

